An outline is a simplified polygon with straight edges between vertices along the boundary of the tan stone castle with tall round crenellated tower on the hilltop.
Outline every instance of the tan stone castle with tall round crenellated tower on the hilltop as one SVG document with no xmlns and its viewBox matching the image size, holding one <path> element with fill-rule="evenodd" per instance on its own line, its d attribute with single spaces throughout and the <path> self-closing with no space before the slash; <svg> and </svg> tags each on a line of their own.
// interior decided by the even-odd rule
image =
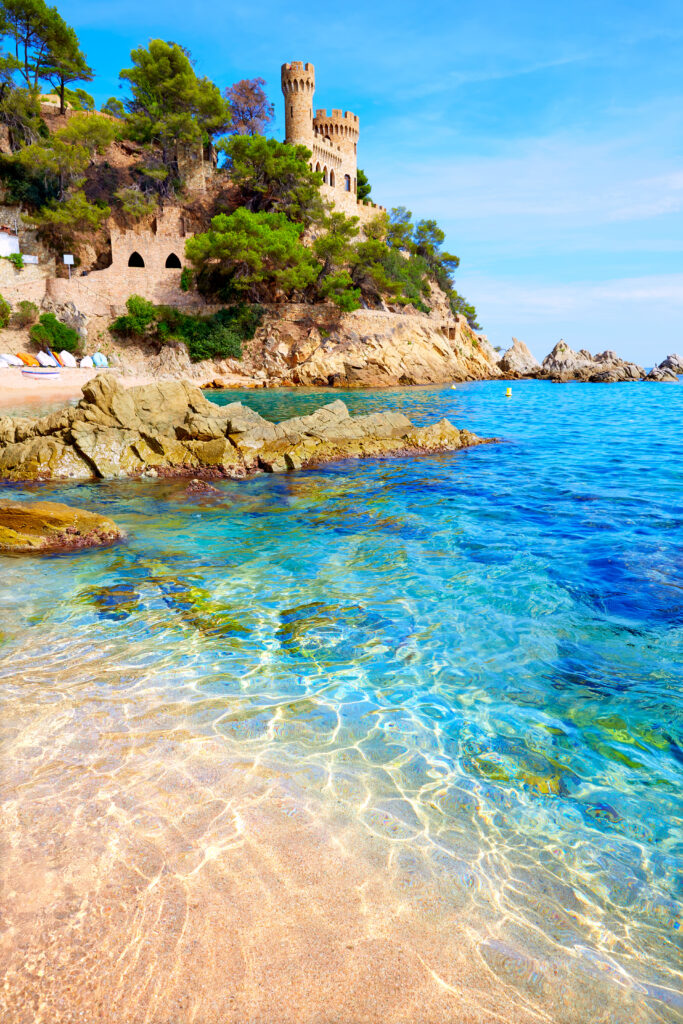
<svg viewBox="0 0 683 1024">
<path fill-rule="evenodd" d="M 315 69 L 292 60 L 281 69 L 285 96 L 285 141 L 305 145 L 312 153 L 310 168 L 323 175 L 321 190 L 336 209 L 367 223 L 384 211 L 357 198 L 358 118 L 350 111 L 315 111 Z"/>
</svg>

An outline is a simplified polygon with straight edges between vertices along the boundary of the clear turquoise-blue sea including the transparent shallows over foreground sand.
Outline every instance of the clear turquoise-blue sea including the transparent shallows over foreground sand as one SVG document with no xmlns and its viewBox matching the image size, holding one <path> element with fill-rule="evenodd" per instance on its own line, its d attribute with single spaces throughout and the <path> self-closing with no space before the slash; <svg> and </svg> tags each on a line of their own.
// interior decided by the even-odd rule
<svg viewBox="0 0 683 1024">
<path fill-rule="evenodd" d="M 130 543 L 1 565 L 9 1019 L 683 1019 L 683 399 L 504 390 L 344 395 L 455 456 L 11 488 Z"/>
</svg>

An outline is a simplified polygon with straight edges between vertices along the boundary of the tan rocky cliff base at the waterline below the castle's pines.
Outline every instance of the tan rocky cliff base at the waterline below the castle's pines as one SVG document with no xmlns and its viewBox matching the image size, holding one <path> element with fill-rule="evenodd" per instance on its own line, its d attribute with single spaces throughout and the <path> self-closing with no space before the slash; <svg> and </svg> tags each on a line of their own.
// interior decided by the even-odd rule
<svg viewBox="0 0 683 1024">
<path fill-rule="evenodd" d="M 486 338 L 440 307 L 433 316 L 380 309 L 340 315 L 330 305 L 292 303 L 266 309 L 239 360 L 193 364 L 184 344 L 172 341 L 160 350 L 112 338 L 102 348 L 124 373 L 232 387 L 397 387 L 501 376 Z"/>
</svg>

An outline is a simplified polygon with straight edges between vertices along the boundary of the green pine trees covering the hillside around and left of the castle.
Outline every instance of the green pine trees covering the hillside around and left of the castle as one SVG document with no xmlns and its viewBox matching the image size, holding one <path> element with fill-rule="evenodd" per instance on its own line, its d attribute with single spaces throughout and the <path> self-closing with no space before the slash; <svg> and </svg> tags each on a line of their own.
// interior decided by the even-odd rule
<svg viewBox="0 0 683 1024">
<path fill-rule="evenodd" d="M 361 228 L 357 217 L 334 211 L 310 152 L 265 136 L 274 112 L 262 78 L 221 92 L 181 44 L 152 39 L 120 72 L 122 96 L 95 112 L 82 88 L 94 72 L 56 8 L 0 0 L 0 127 L 9 150 L 0 156 L 0 183 L 55 256 L 72 251 L 79 265 L 89 248 L 105 259 L 111 218 L 143 223 L 171 203 L 191 210 L 197 227 L 184 290 L 194 285 L 226 303 L 289 299 L 427 312 L 437 285 L 453 313 L 477 326 L 454 284 L 458 257 L 442 250 L 436 222 L 414 224 L 399 207 Z M 56 120 L 43 102 L 50 90 Z M 117 146 L 128 155 L 125 168 L 110 159 Z M 201 209 L 190 187 L 198 161 L 212 169 Z M 370 196 L 359 169 L 358 200 Z"/>
</svg>

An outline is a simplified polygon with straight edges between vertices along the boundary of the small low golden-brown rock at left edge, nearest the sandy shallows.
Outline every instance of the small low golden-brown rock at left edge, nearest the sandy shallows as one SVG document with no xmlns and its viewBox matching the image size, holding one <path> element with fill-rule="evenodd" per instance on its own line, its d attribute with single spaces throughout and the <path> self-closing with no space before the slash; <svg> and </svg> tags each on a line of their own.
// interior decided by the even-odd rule
<svg viewBox="0 0 683 1024">
<path fill-rule="evenodd" d="M 123 540 L 112 519 L 56 502 L 0 502 L 0 552 L 53 553 Z"/>
</svg>

